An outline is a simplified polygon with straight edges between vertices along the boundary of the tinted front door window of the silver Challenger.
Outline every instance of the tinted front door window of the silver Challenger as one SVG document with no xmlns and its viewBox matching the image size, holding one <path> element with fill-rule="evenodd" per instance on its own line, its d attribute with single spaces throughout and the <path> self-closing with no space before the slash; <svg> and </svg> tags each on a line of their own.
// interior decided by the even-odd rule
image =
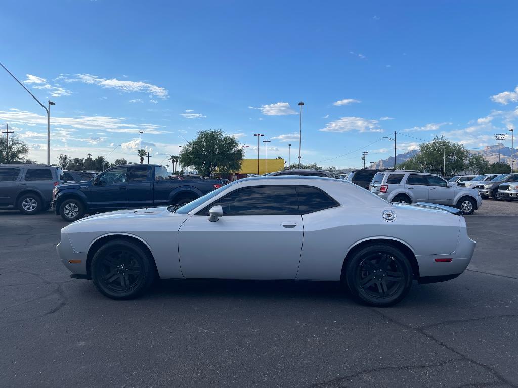
<svg viewBox="0 0 518 388">
<path fill-rule="evenodd" d="M 247 187 L 229 193 L 198 214 L 208 214 L 209 208 L 221 205 L 226 216 L 295 215 L 298 212 L 295 187 Z"/>
</svg>

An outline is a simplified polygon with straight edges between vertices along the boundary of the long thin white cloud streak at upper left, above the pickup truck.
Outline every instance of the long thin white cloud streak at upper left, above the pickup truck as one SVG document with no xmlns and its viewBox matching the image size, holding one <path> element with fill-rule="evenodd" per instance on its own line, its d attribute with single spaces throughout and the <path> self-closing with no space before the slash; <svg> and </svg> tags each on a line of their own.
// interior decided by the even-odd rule
<svg viewBox="0 0 518 388">
<path fill-rule="evenodd" d="M 140 92 L 148 93 L 155 97 L 167 98 L 169 92 L 166 88 L 152 85 L 146 82 L 140 81 L 125 81 L 118 80 L 117 78 L 106 79 L 93 76 L 92 74 L 76 74 L 76 78 L 68 78 L 64 74 L 60 75 L 56 79 L 63 80 L 65 82 L 83 82 L 86 84 L 99 85 L 104 88 L 117 89 L 125 93 Z"/>
</svg>

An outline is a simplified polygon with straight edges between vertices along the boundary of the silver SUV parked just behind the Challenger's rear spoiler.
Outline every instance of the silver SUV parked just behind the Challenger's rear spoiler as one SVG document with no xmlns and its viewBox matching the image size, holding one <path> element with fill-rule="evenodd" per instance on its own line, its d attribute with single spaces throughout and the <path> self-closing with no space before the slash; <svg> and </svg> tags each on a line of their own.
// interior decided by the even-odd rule
<svg viewBox="0 0 518 388">
<path fill-rule="evenodd" d="M 435 174 L 383 171 L 370 183 L 370 191 L 391 202 L 431 202 L 450 205 L 472 214 L 482 204 L 477 190 L 463 189 Z"/>
</svg>

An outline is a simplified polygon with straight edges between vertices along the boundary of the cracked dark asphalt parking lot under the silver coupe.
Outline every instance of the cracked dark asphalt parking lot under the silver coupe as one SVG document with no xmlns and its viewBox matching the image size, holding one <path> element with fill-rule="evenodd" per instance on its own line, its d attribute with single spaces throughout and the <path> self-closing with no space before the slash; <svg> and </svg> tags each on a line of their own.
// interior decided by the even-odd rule
<svg viewBox="0 0 518 388">
<path fill-rule="evenodd" d="M 381 309 L 307 282 L 163 281 L 112 301 L 57 259 L 60 217 L 0 212 L 0 386 L 518 386 L 518 202 L 466 220 L 468 270 Z"/>
</svg>

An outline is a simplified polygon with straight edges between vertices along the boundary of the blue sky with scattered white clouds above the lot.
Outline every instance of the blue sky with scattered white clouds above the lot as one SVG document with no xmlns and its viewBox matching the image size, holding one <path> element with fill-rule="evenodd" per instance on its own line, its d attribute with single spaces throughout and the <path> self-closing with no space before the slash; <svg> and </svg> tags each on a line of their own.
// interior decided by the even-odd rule
<svg viewBox="0 0 518 388">
<path fill-rule="evenodd" d="M 210 128 L 247 157 L 254 133 L 269 157 L 287 160 L 291 143 L 295 162 L 303 100 L 303 162 L 358 167 L 363 151 L 392 155 L 394 131 L 399 153 L 440 134 L 479 148 L 513 128 L 517 13 L 512 1 L 6 2 L 0 62 L 56 102 L 51 162 L 118 144 L 111 161 L 137 161 L 139 130 L 160 162 Z M 0 123 L 44 162 L 45 111 L 0 70 Z"/>
</svg>

